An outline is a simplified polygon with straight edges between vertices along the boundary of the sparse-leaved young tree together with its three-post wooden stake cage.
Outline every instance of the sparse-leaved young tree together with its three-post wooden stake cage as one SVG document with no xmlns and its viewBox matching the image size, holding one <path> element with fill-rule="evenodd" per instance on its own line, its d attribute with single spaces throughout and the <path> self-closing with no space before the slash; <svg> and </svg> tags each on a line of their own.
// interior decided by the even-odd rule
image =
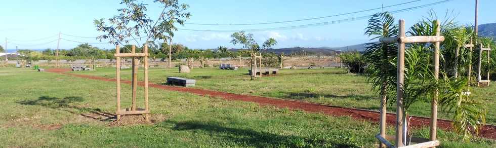
<svg viewBox="0 0 496 148">
<path fill-rule="evenodd" d="M 178 0 L 155 0 L 153 3 L 160 5 L 162 11 L 158 14 L 156 20 L 152 20 L 147 14 L 147 4 L 137 3 L 135 0 L 122 0 L 120 4 L 126 8 L 118 9 L 118 14 L 108 19 L 108 24 L 104 19 L 95 19 L 94 23 L 97 30 L 106 34 L 97 37 L 97 40 L 109 40 L 109 43 L 116 45 L 116 79 L 117 79 L 117 121 L 121 115 L 129 114 L 145 114 L 145 120 L 149 121 L 148 108 L 148 45 L 150 41 L 162 40 L 169 41 L 174 36 L 174 31 L 177 31 L 175 24 L 183 25 L 186 19 L 189 19 L 191 14 L 185 12 L 188 5 L 179 4 Z M 138 49 L 144 49 L 143 53 L 136 53 L 136 47 L 132 46 L 129 49 L 123 43 L 128 44 L 130 41 L 136 42 Z M 141 43 L 141 44 L 140 44 Z M 125 47 L 124 53 L 120 52 L 119 46 Z M 129 53 L 131 52 L 131 53 Z M 133 98 L 132 108 L 127 110 L 120 109 L 120 58 L 133 58 Z M 136 89 L 137 89 L 137 71 L 138 58 L 144 60 L 144 79 L 145 79 L 145 108 L 139 109 L 136 107 Z"/>
</svg>

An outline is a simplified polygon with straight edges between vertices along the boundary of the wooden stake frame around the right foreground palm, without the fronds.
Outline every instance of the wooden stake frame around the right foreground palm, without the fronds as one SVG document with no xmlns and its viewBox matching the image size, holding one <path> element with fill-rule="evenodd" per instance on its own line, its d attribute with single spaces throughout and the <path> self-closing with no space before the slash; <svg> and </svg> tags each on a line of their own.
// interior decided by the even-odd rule
<svg viewBox="0 0 496 148">
<path fill-rule="evenodd" d="M 381 124 L 380 134 L 376 135 L 376 138 L 382 143 L 380 146 L 385 145 L 387 147 L 434 147 L 439 145 L 439 141 L 436 140 L 437 131 L 437 94 L 438 90 L 435 90 L 435 95 L 432 98 L 431 104 L 431 123 L 430 123 L 430 140 L 428 142 L 413 144 L 405 146 L 406 144 L 406 118 L 404 117 L 403 110 L 403 85 L 404 85 L 404 60 L 405 60 L 405 44 L 406 43 L 429 43 L 433 42 L 434 49 L 434 77 L 439 79 L 439 47 L 440 42 L 444 41 L 444 36 L 441 36 L 440 29 L 441 26 L 439 21 L 437 22 L 437 30 L 435 36 L 406 36 L 405 35 L 405 22 L 403 19 L 398 21 L 398 36 L 396 37 L 386 37 L 380 38 L 381 43 L 397 43 L 398 44 L 398 58 L 397 58 L 397 81 L 396 81 L 396 135 L 395 143 L 396 146 L 392 145 L 387 141 L 385 137 L 385 125 Z M 381 115 L 386 114 L 386 107 L 383 107 L 384 102 L 381 102 Z M 386 116 L 381 116 L 382 121 L 386 121 Z M 385 123 L 384 123 L 385 124 Z M 384 127 L 383 127 L 384 126 Z"/>
</svg>

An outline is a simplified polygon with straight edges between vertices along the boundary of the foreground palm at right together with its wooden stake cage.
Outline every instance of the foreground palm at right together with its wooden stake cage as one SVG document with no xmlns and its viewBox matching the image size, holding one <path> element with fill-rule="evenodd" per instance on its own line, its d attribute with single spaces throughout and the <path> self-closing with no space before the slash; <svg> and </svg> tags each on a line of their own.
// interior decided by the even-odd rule
<svg viewBox="0 0 496 148">
<path fill-rule="evenodd" d="M 404 21 L 396 26 L 394 18 L 388 13 L 374 15 L 366 28 L 365 34 L 379 38 L 379 43 L 366 45 L 365 58 L 369 62 L 367 76 L 379 87 L 381 95 L 380 134 L 376 137 L 382 144 L 395 147 L 386 140 L 386 107 L 387 101 L 396 101 L 396 146 L 409 145 L 411 138 L 408 128 L 408 109 L 418 101 L 431 102 L 431 131 L 429 142 L 410 145 L 409 147 L 430 147 L 439 145 L 436 140 L 437 105 L 445 110 L 454 111 L 453 127 L 464 134 L 468 140 L 472 131 L 484 123 L 484 107 L 478 100 L 472 99 L 468 90 L 467 79 L 449 77 L 446 67 L 440 67 L 440 53 L 445 40 L 441 36 L 442 26 L 437 19 L 426 19 L 415 24 L 405 32 Z M 397 33 L 395 33 L 397 32 Z M 408 33 L 411 36 L 406 36 Z M 449 34 L 448 34 L 449 35 Z M 431 44 L 432 43 L 432 44 Z M 458 48 L 459 46 L 452 46 Z M 396 48 L 396 49 L 395 49 Z M 431 50 L 432 49 L 432 50 Z M 396 55 L 395 55 L 396 54 Z M 442 61 L 446 62 L 446 61 Z M 451 61 L 456 62 L 456 61 Z M 432 66 L 433 65 L 433 66 Z M 395 76 L 396 75 L 396 76 Z M 439 79 L 441 75 L 441 79 Z M 396 97 L 393 97 L 396 96 Z M 390 104 L 393 104 L 392 101 Z M 411 141 L 420 142 L 420 141 Z"/>
</svg>

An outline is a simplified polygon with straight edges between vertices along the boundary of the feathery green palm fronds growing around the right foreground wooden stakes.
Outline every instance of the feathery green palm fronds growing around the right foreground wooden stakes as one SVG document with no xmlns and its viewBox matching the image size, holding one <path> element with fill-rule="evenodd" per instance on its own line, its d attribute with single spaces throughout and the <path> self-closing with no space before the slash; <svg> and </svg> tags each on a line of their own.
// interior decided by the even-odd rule
<svg viewBox="0 0 496 148">
<path fill-rule="evenodd" d="M 409 35 L 434 35 L 437 30 L 437 18 L 426 18 L 407 32 Z M 397 27 L 393 24 L 394 17 L 388 13 L 378 13 L 373 15 L 365 29 L 365 34 L 372 36 L 372 40 L 380 37 L 397 36 Z M 441 32 L 446 39 L 452 39 L 453 42 L 444 42 L 441 45 L 441 53 L 455 55 L 455 49 L 462 49 L 460 45 L 466 43 L 466 38 L 462 32 L 457 32 L 460 26 L 453 23 L 450 19 L 444 21 L 441 25 Z M 451 33 L 449 33 L 451 32 Z M 463 39 L 463 40 L 462 40 Z M 456 41 L 456 42 L 454 42 Z M 435 95 L 435 90 L 439 91 L 438 105 L 441 109 L 453 112 L 453 126 L 456 132 L 464 135 L 465 140 L 471 136 L 471 131 L 476 131 L 485 120 L 485 107 L 480 100 L 470 97 L 467 79 L 465 77 L 450 77 L 445 71 L 450 71 L 453 67 L 462 67 L 465 62 L 460 57 L 456 59 L 441 61 L 440 80 L 435 79 L 431 66 L 431 56 L 433 51 L 432 44 L 408 44 L 405 50 L 405 79 L 403 89 L 403 119 L 407 119 L 408 109 L 411 104 L 418 101 L 430 102 L 430 98 Z M 395 101 L 393 97 L 396 94 L 396 54 L 397 46 L 395 44 L 369 43 L 366 45 L 365 58 L 368 62 L 367 77 L 368 81 L 373 84 L 373 88 L 380 86 L 380 95 L 382 97 L 381 107 L 384 107 L 387 101 Z M 463 51 L 465 52 L 465 51 Z M 463 60 L 462 60 L 463 61 Z M 407 131 L 408 132 L 408 131 Z M 381 133 L 382 134 L 382 133 Z"/>
</svg>

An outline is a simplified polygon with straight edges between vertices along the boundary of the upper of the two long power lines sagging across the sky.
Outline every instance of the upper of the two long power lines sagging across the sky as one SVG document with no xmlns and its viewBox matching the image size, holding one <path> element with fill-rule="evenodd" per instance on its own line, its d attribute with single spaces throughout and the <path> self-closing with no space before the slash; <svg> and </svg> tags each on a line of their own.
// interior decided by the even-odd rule
<svg viewBox="0 0 496 148">
<path fill-rule="evenodd" d="M 184 24 L 191 24 L 191 25 L 211 25 L 211 26 L 239 26 L 239 25 L 263 25 L 263 24 L 288 23 L 288 22 L 298 22 L 298 21 L 306 21 L 306 20 L 315 20 L 315 19 L 322 19 L 322 18 L 329 18 L 329 17 L 336 17 L 336 16 L 342 16 L 342 15 L 349 15 L 349 14 L 354 14 L 354 13 L 361 13 L 361 12 L 373 11 L 373 10 L 378 10 L 378 9 L 383 9 L 383 8 L 389 8 L 389 7 L 395 7 L 395 6 L 405 5 L 405 4 L 409 4 L 409 3 L 415 3 L 415 2 L 419 2 L 419 1 L 422 1 L 422 0 L 410 1 L 410 2 L 405 2 L 405 3 L 401 3 L 401 4 L 395 4 L 395 5 L 390 5 L 390 6 L 380 7 L 380 8 L 365 9 L 365 10 L 360 10 L 360 11 L 355 11 L 355 12 L 348 12 L 348 13 L 342 13 L 342 14 L 336 14 L 336 15 L 314 17 L 314 18 L 307 18 L 307 19 L 299 19 L 299 20 L 290 20 L 290 21 L 265 22 L 265 23 L 246 23 L 246 24 L 205 24 L 205 23 L 188 23 L 188 22 L 185 22 Z"/>
</svg>

